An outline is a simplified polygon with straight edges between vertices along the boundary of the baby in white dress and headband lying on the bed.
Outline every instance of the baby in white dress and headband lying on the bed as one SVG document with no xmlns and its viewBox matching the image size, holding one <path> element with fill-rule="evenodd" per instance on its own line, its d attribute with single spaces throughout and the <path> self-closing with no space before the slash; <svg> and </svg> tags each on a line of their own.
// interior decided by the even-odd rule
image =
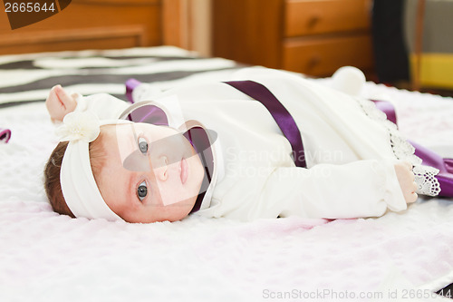
<svg viewBox="0 0 453 302">
<path fill-rule="evenodd" d="M 437 171 L 370 101 L 275 70 L 232 80 L 152 95 L 130 87 L 133 105 L 53 87 L 46 106 L 63 122 L 44 170 L 53 209 L 141 223 L 342 219 L 439 194 Z"/>
</svg>

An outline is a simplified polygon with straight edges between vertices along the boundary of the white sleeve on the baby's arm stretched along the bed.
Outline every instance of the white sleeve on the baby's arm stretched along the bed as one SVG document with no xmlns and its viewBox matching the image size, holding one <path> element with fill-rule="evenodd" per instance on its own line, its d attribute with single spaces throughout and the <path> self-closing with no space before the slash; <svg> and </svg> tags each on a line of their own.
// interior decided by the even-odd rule
<svg viewBox="0 0 453 302">
<path fill-rule="evenodd" d="M 267 210 L 281 217 L 348 219 L 407 209 L 393 161 L 278 168 L 270 175 L 262 199 L 267 205 L 272 202 Z"/>
</svg>

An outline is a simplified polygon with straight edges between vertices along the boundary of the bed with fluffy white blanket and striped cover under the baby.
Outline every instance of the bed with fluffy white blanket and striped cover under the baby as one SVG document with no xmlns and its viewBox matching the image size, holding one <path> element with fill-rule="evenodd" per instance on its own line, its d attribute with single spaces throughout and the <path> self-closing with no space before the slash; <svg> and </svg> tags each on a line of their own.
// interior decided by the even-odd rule
<svg viewBox="0 0 453 302">
<path fill-rule="evenodd" d="M 126 100 L 130 77 L 168 89 L 242 67 L 169 46 L 0 56 L 0 128 L 11 131 L 0 142 L 0 300 L 448 300 L 434 292 L 453 282 L 453 200 L 420 198 L 379 219 L 248 223 L 53 212 L 42 170 L 57 141 L 43 105 L 54 84 Z M 375 83 L 362 95 L 392 99 L 401 132 L 453 157 L 451 98 Z"/>
</svg>

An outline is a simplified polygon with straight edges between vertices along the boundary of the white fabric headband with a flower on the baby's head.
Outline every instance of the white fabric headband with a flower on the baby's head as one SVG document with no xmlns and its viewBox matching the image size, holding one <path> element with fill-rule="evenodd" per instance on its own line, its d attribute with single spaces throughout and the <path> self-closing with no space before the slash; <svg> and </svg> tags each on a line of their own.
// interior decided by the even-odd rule
<svg viewBox="0 0 453 302">
<path fill-rule="evenodd" d="M 92 112 L 71 112 L 57 129 L 60 141 L 69 141 L 64 152 L 60 183 L 63 197 L 75 217 L 123 220 L 102 199 L 90 163 L 89 143 L 96 140 L 101 125 L 129 123 L 124 120 L 102 121 Z"/>
</svg>

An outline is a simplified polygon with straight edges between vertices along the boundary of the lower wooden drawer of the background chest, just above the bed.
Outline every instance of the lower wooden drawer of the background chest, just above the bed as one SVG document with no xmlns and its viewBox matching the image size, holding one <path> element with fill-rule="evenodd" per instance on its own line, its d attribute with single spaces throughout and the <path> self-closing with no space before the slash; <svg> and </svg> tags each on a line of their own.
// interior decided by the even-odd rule
<svg viewBox="0 0 453 302">
<path fill-rule="evenodd" d="M 283 68 L 286 70 L 330 76 L 345 65 L 356 66 L 364 71 L 372 68 L 370 35 L 301 38 L 284 43 Z"/>
</svg>

